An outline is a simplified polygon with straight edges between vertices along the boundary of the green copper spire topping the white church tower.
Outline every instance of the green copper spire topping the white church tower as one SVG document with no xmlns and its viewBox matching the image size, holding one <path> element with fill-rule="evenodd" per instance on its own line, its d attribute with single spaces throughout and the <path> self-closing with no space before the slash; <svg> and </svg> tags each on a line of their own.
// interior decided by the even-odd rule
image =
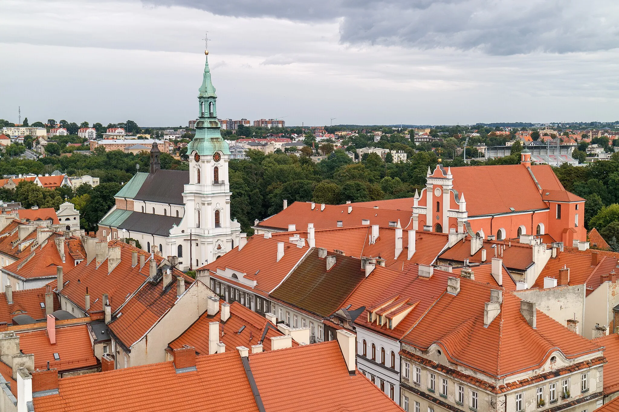
<svg viewBox="0 0 619 412">
<path fill-rule="evenodd" d="M 187 145 L 187 154 L 197 151 L 200 156 L 212 156 L 216 151 L 230 154 L 228 143 L 223 140 L 220 132 L 221 125 L 217 120 L 217 95 L 210 80 L 209 51 L 204 51 L 204 77 L 202 86 L 198 89 L 198 119 L 196 122 L 196 136 Z"/>
</svg>

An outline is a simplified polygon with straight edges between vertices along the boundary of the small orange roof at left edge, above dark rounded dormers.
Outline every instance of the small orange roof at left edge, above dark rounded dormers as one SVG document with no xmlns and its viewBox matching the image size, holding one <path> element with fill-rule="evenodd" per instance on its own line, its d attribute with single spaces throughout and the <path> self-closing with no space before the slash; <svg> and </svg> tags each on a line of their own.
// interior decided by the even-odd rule
<svg viewBox="0 0 619 412">
<path fill-rule="evenodd" d="M 12 324 L 13 317 L 18 314 L 27 314 L 36 320 L 46 318 L 45 308 L 41 308 L 41 303 L 45 304 L 46 287 L 26 290 L 14 290 L 13 303 L 9 305 L 6 300 L 6 293 L 0 293 L 0 322 Z M 54 311 L 60 309 L 60 303 L 56 293 L 54 295 Z"/>
</svg>

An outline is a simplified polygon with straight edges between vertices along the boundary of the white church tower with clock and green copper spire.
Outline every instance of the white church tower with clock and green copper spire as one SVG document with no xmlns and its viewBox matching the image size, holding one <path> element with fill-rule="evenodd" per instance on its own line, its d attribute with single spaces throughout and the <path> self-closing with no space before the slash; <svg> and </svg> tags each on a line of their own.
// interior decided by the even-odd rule
<svg viewBox="0 0 619 412">
<path fill-rule="evenodd" d="M 197 96 L 196 135 L 187 145 L 189 183 L 183 191 L 184 217 L 180 226 L 171 230 L 183 238 L 184 243 L 179 239 L 177 244 L 189 247 L 189 253 L 183 253 L 186 256 L 180 260 L 191 259 L 193 269 L 232 250 L 238 245 L 241 232 L 236 219 L 230 219 L 230 149 L 220 133 L 217 95 L 210 80 L 209 52 L 204 51 L 204 54 L 204 75 Z"/>
</svg>

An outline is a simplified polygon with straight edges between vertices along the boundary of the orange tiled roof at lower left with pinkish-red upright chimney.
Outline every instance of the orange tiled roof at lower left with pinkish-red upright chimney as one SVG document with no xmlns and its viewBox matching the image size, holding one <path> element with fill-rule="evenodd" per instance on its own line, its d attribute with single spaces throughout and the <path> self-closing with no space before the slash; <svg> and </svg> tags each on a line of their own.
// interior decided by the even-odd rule
<svg viewBox="0 0 619 412">
<path fill-rule="evenodd" d="M 97 366 L 88 326 L 56 327 L 56 343 L 51 344 L 46 329 L 33 332 L 16 332 L 22 353 L 35 355 L 35 369 L 56 368 L 59 372 Z M 60 360 L 54 360 L 58 353 Z"/>
</svg>

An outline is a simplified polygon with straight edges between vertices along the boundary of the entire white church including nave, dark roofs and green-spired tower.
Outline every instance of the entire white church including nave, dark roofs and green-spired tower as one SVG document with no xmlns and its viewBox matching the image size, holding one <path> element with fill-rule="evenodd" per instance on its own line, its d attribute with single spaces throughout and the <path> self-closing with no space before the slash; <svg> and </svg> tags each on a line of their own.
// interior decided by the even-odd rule
<svg viewBox="0 0 619 412">
<path fill-rule="evenodd" d="M 220 134 L 217 95 L 208 52 L 199 88 L 196 136 L 189 142 L 189 170 L 163 170 L 157 145 L 149 173 L 138 172 L 115 195 L 97 237 L 136 240 L 142 249 L 177 256 L 179 269 L 197 269 L 238 245 L 241 225 L 230 218 L 228 143 Z"/>
</svg>

